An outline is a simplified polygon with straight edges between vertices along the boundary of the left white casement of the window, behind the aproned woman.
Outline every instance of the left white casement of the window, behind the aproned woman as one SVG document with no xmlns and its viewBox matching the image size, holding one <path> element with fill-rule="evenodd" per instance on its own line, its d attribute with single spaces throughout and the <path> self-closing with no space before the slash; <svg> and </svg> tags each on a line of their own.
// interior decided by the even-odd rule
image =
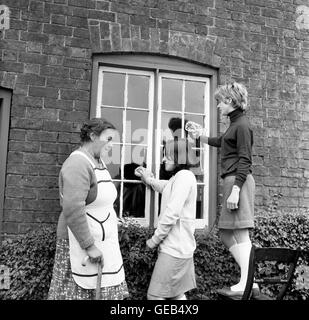
<svg viewBox="0 0 309 320">
<path fill-rule="evenodd" d="M 118 190 L 119 216 L 149 221 L 150 190 L 134 175 L 139 165 L 152 167 L 153 92 L 151 72 L 100 67 L 96 116 L 113 123 L 119 136 L 106 165 Z"/>
</svg>

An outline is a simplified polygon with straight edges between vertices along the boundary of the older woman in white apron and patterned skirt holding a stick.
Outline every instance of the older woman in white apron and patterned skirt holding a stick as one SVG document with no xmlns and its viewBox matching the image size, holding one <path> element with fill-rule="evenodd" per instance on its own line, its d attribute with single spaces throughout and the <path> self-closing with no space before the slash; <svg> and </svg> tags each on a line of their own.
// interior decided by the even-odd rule
<svg viewBox="0 0 309 320">
<path fill-rule="evenodd" d="M 102 160 L 112 147 L 115 127 L 94 118 L 81 128 L 81 146 L 63 163 L 59 176 L 62 212 L 50 300 L 93 300 L 102 266 L 102 300 L 128 295 L 113 203 L 116 188 Z"/>
</svg>

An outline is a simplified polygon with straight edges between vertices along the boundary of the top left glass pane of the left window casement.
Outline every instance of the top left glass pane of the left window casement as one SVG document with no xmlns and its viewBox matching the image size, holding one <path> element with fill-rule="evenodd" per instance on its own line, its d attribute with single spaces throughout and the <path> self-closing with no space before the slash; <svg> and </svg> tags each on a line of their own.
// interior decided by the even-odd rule
<svg viewBox="0 0 309 320">
<path fill-rule="evenodd" d="M 108 106 L 124 106 L 125 74 L 104 72 L 102 104 Z"/>
</svg>

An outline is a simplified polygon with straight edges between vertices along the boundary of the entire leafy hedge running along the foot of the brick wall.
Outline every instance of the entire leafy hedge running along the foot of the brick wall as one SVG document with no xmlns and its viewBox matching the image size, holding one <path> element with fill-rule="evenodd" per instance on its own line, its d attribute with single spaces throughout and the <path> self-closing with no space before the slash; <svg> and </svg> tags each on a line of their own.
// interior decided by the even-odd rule
<svg viewBox="0 0 309 320">
<path fill-rule="evenodd" d="M 131 299 L 146 298 L 147 287 L 156 260 L 156 251 L 147 250 L 146 240 L 153 230 L 125 219 L 119 230 L 126 280 Z M 197 233 L 194 255 L 197 289 L 189 299 L 216 299 L 215 290 L 238 281 L 239 268 L 223 247 L 217 232 Z M 309 217 L 306 214 L 267 214 L 256 217 L 252 241 L 257 246 L 301 247 L 309 250 Z M 0 299 L 46 299 L 55 254 L 55 227 L 43 227 L 16 239 L 5 240 L 0 253 L 0 265 L 11 271 L 9 290 L 0 290 Z M 302 261 L 299 274 L 287 299 L 307 299 L 308 285 L 300 274 L 308 265 Z M 272 267 L 273 268 L 273 267 Z M 280 268 L 280 266 L 279 266 Z M 307 268 L 305 266 L 305 268 Z M 271 272 L 265 268 L 265 272 Z M 271 290 L 270 290 L 271 293 Z"/>
</svg>

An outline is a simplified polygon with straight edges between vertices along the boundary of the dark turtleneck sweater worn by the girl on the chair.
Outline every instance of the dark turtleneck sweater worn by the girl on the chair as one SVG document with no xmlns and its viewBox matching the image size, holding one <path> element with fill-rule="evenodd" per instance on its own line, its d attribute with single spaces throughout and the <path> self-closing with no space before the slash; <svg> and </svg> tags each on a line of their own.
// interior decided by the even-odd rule
<svg viewBox="0 0 309 320">
<path fill-rule="evenodd" d="M 218 138 L 208 138 L 208 144 L 221 147 L 221 178 L 234 175 L 234 185 L 241 188 L 252 172 L 253 132 L 241 109 L 232 111 L 228 116 L 229 128 Z"/>
</svg>

